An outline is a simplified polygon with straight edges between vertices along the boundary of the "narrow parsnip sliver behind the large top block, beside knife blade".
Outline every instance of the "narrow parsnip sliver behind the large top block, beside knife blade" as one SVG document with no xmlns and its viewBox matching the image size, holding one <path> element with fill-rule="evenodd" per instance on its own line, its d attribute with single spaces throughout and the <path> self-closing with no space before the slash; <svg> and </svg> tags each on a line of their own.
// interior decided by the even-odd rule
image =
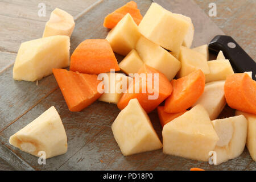
<svg viewBox="0 0 256 182">
<path fill-rule="evenodd" d="M 192 20 L 191 20 L 191 18 L 189 18 L 188 16 L 185 16 L 185 15 L 176 14 L 176 13 L 174 13 L 174 15 L 177 15 L 180 18 L 183 18 L 185 21 L 187 21 L 189 23 L 188 32 L 184 37 L 182 46 L 190 48 L 191 45 L 192 45 L 192 41 L 193 41 L 193 38 L 194 38 L 194 32 L 195 32 L 195 28 L 193 26 Z"/>
</svg>

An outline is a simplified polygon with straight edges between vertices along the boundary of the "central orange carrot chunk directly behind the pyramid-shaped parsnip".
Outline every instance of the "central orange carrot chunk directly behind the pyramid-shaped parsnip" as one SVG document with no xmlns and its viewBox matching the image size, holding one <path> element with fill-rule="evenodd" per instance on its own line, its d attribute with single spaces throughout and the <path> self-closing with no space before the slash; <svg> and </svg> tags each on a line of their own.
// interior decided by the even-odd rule
<svg viewBox="0 0 256 182">
<path fill-rule="evenodd" d="M 167 79 L 167 77 L 163 75 L 163 73 L 160 73 L 159 71 L 156 71 L 156 69 L 148 67 L 145 64 L 138 72 L 138 74 L 141 74 L 141 73 L 146 73 L 146 74 L 152 73 L 152 88 L 148 88 L 147 86 L 148 84 L 143 85 L 142 82 L 144 82 L 144 80 L 140 79 L 139 81 L 138 80 L 136 81 L 134 78 L 133 85 L 131 85 L 132 89 L 130 88 L 130 85 L 129 85 L 128 92 L 122 95 L 121 99 L 117 104 L 117 107 L 119 109 L 122 110 L 127 106 L 127 104 L 131 99 L 137 98 L 139 101 L 139 104 L 141 104 L 143 109 L 147 113 L 150 113 L 172 93 L 172 85 L 170 81 Z M 155 89 L 155 85 L 154 85 L 155 74 L 158 74 L 159 76 L 158 92 Z M 148 82 L 148 80 L 146 80 L 146 82 Z M 135 91 L 135 88 L 137 87 L 137 85 L 139 85 L 139 93 L 131 92 L 131 91 Z M 146 93 L 142 93 L 143 89 L 146 90 Z M 148 90 L 150 90 L 150 92 L 148 92 Z M 154 94 L 155 95 L 158 94 L 158 97 L 155 100 L 148 99 L 148 96 L 153 96 Z"/>
</svg>

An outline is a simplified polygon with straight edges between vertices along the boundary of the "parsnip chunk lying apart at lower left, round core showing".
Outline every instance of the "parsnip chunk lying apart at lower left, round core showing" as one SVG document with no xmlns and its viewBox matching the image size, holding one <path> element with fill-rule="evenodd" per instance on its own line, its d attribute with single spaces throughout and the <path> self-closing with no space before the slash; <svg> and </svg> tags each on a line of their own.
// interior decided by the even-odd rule
<svg viewBox="0 0 256 182">
<path fill-rule="evenodd" d="M 65 154 L 68 150 L 67 135 L 54 106 L 12 135 L 9 142 L 35 156 L 44 151 L 46 159 Z"/>
</svg>

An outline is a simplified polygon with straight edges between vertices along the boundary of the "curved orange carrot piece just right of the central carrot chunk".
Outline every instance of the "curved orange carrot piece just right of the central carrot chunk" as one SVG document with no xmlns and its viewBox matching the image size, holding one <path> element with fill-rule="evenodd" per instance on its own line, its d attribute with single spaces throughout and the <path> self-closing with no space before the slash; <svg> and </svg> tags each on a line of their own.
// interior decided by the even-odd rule
<svg viewBox="0 0 256 182">
<path fill-rule="evenodd" d="M 167 113 L 180 113 L 187 110 L 203 94 L 204 83 L 205 76 L 200 69 L 177 80 L 172 80 L 174 92 L 167 98 L 164 111 Z"/>
</svg>

